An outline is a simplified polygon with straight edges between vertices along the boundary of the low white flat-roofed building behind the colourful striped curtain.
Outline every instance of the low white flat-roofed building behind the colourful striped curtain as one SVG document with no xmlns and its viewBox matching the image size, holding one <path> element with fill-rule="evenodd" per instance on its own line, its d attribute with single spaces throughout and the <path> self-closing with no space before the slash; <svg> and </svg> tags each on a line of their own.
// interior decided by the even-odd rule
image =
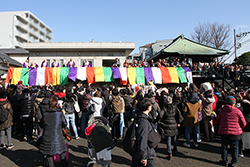
<svg viewBox="0 0 250 167">
<path fill-rule="evenodd" d="M 49 64 L 57 59 L 60 66 L 70 58 L 81 67 L 85 59 L 91 62 L 92 67 L 110 67 L 118 58 L 121 64 L 135 49 L 134 42 L 40 42 L 23 43 L 23 49 L 29 51 L 29 62 L 41 63 L 46 59 Z M 11 58 L 23 63 L 27 55 L 10 55 Z"/>
</svg>

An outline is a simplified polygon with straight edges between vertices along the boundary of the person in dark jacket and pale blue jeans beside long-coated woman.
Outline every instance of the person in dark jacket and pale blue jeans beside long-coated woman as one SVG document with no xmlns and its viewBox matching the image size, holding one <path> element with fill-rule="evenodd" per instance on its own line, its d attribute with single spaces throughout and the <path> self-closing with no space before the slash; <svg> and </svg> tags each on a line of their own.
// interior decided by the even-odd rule
<svg viewBox="0 0 250 167">
<path fill-rule="evenodd" d="M 67 127 L 70 129 L 70 123 L 73 128 L 75 139 L 79 139 L 76 123 L 75 123 L 75 108 L 74 108 L 74 100 L 73 100 L 73 93 L 71 90 L 67 90 L 66 98 L 62 104 L 62 108 L 65 110 L 65 118 L 67 120 Z"/>
</svg>

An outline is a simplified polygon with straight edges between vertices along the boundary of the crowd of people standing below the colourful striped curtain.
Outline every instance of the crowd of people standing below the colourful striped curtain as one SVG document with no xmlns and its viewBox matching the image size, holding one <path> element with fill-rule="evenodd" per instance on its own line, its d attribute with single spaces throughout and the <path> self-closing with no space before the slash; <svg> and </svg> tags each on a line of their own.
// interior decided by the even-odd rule
<svg viewBox="0 0 250 167">
<path fill-rule="evenodd" d="M 75 102 L 78 102 L 80 112 L 74 108 Z M 150 124 L 166 140 L 169 160 L 178 152 L 180 137 L 186 139 L 185 147 L 191 147 L 190 139 L 193 138 L 193 146 L 198 148 L 202 140 L 213 142 L 215 135 L 221 135 L 219 163 L 222 165 L 228 165 L 228 152 L 234 166 L 238 156 L 244 157 L 243 151 L 248 154 L 250 149 L 250 91 L 222 90 L 209 82 L 201 84 L 200 88 L 191 83 L 175 89 L 153 84 L 66 88 L 59 85 L 25 87 L 19 83 L 10 85 L 7 90 L 1 88 L 0 105 L 8 115 L 0 124 L 0 149 L 14 147 L 11 134 L 22 136 L 27 142 L 37 141 L 49 166 L 53 166 L 55 154 L 60 155 L 62 166 L 68 164 L 61 128 L 72 129 L 77 140 L 85 137 L 88 120 L 95 116 L 109 120 L 115 141 L 122 140 L 124 127 L 129 127 L 138 118 L 138 127 L 143 128 L 137 129 L 138 149 L 132 154 L 132 166 L 141 163 L 155 166 L 155 151 L 147 143 L 152 130 Z M 95 111 L 90 112 L 93 105 Z M 7 144 L 4 142 L 5 132 Z M 203 138 L 201 134 L 204 134 Z M 229 150 L 228 145 L 231 146 Z"/>
</svg>

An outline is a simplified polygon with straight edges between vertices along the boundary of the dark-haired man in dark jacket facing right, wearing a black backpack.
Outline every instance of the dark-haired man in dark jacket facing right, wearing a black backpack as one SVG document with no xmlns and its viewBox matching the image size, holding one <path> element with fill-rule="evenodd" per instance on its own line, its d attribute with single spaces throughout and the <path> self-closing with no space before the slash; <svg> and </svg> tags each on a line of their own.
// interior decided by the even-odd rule
<svg viewBox="0 0 250 167">
<path fill-rule="evenodd" d="M 153 120 L 149 117 L 152 104 L 148 98 L 143 98 L 139 103 L 139 114 L 136 128 L 137 149 L 132 153 L 131 167 L 155 167 L 156 154 L 154 148 L 148 145 L 148 134 L 153 130 Z"/>
</svg>

